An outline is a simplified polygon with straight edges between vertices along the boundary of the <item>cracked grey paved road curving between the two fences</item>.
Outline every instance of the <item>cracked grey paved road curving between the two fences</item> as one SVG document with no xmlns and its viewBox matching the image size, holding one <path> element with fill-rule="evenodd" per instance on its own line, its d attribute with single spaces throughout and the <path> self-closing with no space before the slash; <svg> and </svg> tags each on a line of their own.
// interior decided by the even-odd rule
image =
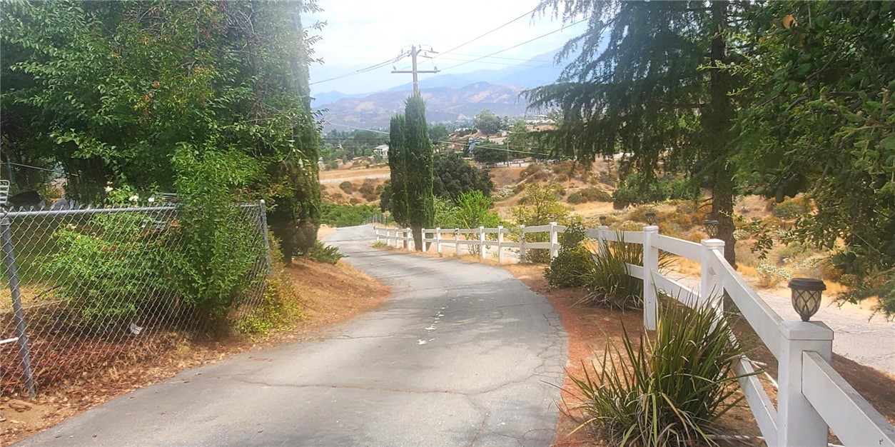
<svg viewBox="0 0 895 447">
<path fill-rule="evenodd" d="M 548 445 L 567 335 L 507 271 L 329 242 L 393 290 L 318 340 L 245 353 L 134 391 L 31 445 Z"/>
</svg>

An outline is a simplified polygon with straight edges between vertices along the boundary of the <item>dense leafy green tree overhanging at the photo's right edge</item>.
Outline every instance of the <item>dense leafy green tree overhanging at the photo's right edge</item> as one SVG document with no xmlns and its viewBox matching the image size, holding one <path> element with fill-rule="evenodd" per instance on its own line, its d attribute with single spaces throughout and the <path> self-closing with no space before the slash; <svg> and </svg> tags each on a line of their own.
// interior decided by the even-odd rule
<svg viewBox="0 0 895 447">
<path fill-rule="evenodd" d="M 816 211 L 795 237 L 895 314 L 895 39 L 889 2 L 770 2 L 749 17 L 755 51 L 729 70 L 750 107 L 738 123 L 748 189 Z M 840 241 L 845 246 L 840 247 Z M 840 249 L 841 248 L 841 249 Z M 849 281 L 850 279 L 850 281 Z"/>
</svg>

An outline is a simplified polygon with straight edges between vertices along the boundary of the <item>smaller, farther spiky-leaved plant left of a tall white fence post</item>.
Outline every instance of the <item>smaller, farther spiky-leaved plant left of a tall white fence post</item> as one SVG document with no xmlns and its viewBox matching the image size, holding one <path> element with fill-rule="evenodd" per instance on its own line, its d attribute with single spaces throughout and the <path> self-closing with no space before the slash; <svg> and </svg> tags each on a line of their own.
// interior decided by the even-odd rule
<svg viewBox="0 0 895 447">
<path fill-rule="evenodd" d="M 618 232 L 618 242 L 607 242 L 608 250 L 594 254 L 593 263 L 584 271 L 588 293 L 578 304 L 605 305 L 613 309 L 642 309 L 644 280 L 627 274 L 626 264 L 644 265 L 644 246 L 626 243 Z M 669 255 L 659 252 L 659 269 L 669 265 Z"/>
</svg>

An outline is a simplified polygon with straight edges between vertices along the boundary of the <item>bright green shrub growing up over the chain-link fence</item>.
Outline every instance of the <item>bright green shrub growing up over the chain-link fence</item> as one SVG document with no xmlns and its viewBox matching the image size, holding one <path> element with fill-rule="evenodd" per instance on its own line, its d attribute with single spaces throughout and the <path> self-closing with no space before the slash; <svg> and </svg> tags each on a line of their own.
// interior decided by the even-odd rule
<svg viewBox="0 0 895 447">
<path fill-rule="evenodd" d="M 172 277 L 183 300 L 214 331 L 264 279 L 255 269 L 265 254 L 257 220 L 233 204 L 233 191 L 252 175 L 249 156 L 184 145 L 174 158 L 177 199 L 183 202 L 177 233 L 182 248 L 170 255 Z M 220 333 L 220 332 L 218 332 Z"/>
</svg>

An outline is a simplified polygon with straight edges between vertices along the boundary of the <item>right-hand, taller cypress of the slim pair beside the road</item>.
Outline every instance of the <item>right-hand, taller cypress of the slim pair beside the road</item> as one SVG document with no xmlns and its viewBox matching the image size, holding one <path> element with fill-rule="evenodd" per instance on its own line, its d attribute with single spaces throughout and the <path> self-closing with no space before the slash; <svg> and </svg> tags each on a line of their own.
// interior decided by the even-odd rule
<svg viewBox="0 0 895 447">
<path fill-rule="evenodd" d="M 426 125 L 426 104 L 415 94 L 405 107 L 406 197 L 413 242 L 422 251 L 422 228 L 435 225 L 432 195 L 432 142 Z"/>
</svg>

